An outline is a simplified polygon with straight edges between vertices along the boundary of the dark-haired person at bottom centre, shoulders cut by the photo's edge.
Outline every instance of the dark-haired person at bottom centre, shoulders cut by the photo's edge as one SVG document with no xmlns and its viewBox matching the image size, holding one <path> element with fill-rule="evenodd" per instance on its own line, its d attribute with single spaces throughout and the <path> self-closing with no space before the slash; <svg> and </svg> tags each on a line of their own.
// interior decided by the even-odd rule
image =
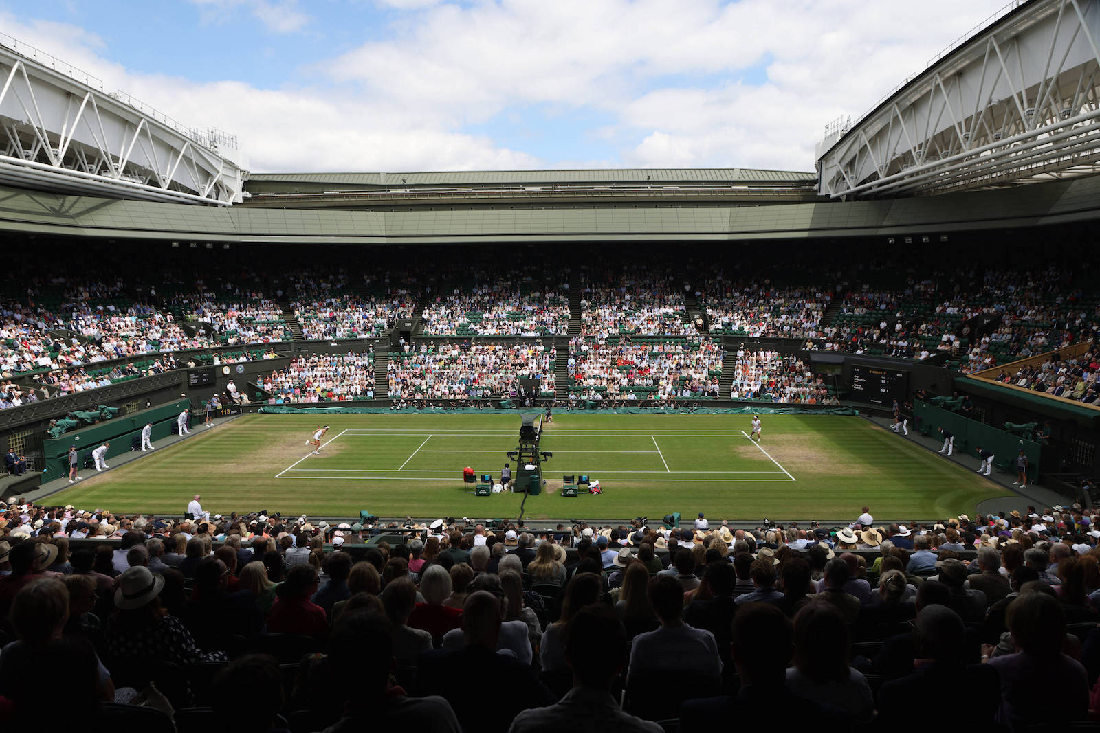
<svg viewBox="0 0 1100 733">
<path fill-rule="evenodd" d="M 517 714 L 509 733 L 559 733 L 562 730 L 661 733 L 663 729 L 659 723 L 623 712 L 610 695 L 612 682 L 624 670 L 629 657 L 623 623 L 606 608 L 588 606 L 573 617 L 568 637 L 565 659 L 573 673 L 573 689 L 556 704 Z"/>
</svg>

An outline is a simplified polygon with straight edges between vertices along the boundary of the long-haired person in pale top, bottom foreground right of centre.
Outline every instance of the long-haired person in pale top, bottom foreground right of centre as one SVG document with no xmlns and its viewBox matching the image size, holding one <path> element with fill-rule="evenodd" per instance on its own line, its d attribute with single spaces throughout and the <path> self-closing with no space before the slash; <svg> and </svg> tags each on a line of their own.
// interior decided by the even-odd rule
<svg viewBox="0 0 1100 733">
<path fill-rule="evenodd" d="M 794 666 L 787 670 L 791 692 L 835 704 L 855 720 L 875 712 L 871 688 L 848 665 L 848 624 L 831 603 L 811 603 L 794 617 Z"/>
</svg>

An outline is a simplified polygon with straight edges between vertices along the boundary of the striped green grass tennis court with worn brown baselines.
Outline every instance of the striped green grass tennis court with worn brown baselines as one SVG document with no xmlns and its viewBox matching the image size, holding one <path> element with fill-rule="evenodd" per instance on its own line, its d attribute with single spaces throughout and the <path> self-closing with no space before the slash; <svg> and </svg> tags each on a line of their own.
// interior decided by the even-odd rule
<svg viewBox="0 0 1100 733">
<path fill-rule="evenodd" d="M 557 414 L 541 449 L 548 486 L 526 518 L 821 519 L 974 513 L 1005 496 L 992 482 L 856 417 Z M 320 455 L 306 445 L 330 425 Z M 520 493 L 474 497 L 462 468 L 499 478 L 517 445 L 516 413 L 250 414 L 103 475 L 84 470 L 52 503 L 179 514 L 193 493 L 211 513 L 516 518 Z M 974 460 L 977 466 L 977 458 Z M 515 464 L 513 464 L 515 468 Z M 559 496 L 563 474 L 588 474 L 601 496 Z M 95 507 L 92 506 L 95 504 Z"/>
</svg>

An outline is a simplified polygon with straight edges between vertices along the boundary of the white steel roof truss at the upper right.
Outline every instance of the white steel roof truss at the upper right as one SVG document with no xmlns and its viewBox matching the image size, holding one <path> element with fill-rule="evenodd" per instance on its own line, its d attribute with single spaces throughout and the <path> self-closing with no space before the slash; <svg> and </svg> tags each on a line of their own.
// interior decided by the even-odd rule
<svg viewBox="0 0 1100 733">
<path fill-rule="evenodd" d="M 1100 171 L 1100 0 L 1031 0 L 818 146 L 835 199 Z"/>
</svg>

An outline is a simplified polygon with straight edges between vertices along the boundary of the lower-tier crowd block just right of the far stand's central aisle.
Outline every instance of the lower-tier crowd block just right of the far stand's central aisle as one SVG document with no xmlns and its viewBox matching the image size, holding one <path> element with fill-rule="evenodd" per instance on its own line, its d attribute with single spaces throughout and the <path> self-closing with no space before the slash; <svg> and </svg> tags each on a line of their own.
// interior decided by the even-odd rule
<svg viewBox="0 0 1100 733">
<path fill-rule="evenodd" d="M 570 341 L 570 396 L 574 399 L 673 400 L 718 397 L 724 352 L 716 341 Z"/>
</svg>

